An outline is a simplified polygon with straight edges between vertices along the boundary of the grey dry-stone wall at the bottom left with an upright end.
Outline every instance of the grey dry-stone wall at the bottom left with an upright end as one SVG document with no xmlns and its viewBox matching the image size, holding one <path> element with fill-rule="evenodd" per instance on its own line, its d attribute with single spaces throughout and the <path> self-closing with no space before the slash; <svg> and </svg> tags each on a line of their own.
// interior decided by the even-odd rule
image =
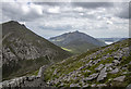
<svg viewBox="0 0 131 89">
<path fill-rule="evenodd" d="M 24 87 L 46 87 L 46 82 L 43 80 L 44 67 L 41 66 L 37 76 L 23 76 L 10 80 L 2 81 L 2 88 L 24 88 Z"/>
</svg>

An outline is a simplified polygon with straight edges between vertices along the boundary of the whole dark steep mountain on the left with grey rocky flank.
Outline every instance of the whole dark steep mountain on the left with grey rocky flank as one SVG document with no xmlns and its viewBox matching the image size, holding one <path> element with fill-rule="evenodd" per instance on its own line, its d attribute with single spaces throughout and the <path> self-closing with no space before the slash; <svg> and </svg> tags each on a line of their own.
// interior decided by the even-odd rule
<svg viewBox="0 0 131 89">
<path fill-rule="evenodd" d="M 2 77 L 26 75 L 71 54 L 15 21 L 2 25 Z"/>
</svg>

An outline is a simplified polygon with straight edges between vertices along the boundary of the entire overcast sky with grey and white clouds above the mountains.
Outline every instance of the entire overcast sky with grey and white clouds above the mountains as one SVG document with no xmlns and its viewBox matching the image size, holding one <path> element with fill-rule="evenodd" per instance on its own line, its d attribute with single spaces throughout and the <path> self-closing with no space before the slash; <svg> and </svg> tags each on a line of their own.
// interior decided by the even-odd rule
<svg viewBox="0 0 131 89">
<path fill-rule="evenodd" d="M 129 37 L 129 2 L 10 0 L 0 12 L 1 23 L 17 21 L 45 38 L 74 30 L 95 38 Z"/>
</svg>

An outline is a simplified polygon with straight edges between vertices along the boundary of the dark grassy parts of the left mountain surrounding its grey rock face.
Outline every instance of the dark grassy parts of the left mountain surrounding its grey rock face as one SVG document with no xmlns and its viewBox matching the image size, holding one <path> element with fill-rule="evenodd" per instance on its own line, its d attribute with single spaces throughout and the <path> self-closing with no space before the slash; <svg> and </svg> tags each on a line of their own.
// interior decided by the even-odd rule
<svg viewBox="0 0 131 89">
<path fill-rule="evenodd" d="M 52 62 L 58 62 L 70 56 L 69 52 L 66 52 L 60 47 L 55 46 L 53 43 L 34 34 L 33 31 L 27 29 L 25 26 L 22 26 L 16 22 L 4 23 L 2 24 L 2 27 L 3 27 L 2 37 L 4 38 L 8 35 L 8 37 L 5 37 L 4 40 L 2 40 L 2 44 L 8 47 L 11 50 L 11 52 L 13 52 L 14 54 L 15 52 L 14 52 L 14 49 L 11 47 L 11 44 L 17 47 L 16 46 L 17 41 L 10 41 L 12 38 L 24 40 L 26 43 L 32 43 L 32 46 L 41 49 L 41 51 L 44 51 L 46 48 L 50 48 L 58 51 L 59 53 L 53 58 Z M 46 56 L 41 56 L 35 60 L 25 59 L 23 61 L 21 61 L 21 58 L 19 56 L 17 59 L 20 60 L 19 62 L 12 61 L 10 62 L 9 65 L 3 65 L 2 67 L 3 79 L 10 79 L 16 76 L 26 75 L 28 73 L 32 73 L 38 69 L 40 66 L 45 64 L 47 65 L 50 63 L 50 61 Z"/>
</svg>

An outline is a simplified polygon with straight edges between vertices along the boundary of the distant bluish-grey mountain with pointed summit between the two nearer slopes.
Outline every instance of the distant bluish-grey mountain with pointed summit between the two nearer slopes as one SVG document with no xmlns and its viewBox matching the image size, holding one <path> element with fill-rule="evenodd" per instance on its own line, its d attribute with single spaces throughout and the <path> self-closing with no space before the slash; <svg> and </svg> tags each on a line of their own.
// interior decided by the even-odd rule
<svg viewBox="0 0 131 89">
<path fill-rule="evenodd" d="M 87 51 L 88 49 L 106 46 L 106 43 L 103 41 L 99 41 L 78 30 L 52 37 L 49 40 L 66 50 L 70 50 L 70 52 L 73 53 L 81 53 Z"/>
</svg>

